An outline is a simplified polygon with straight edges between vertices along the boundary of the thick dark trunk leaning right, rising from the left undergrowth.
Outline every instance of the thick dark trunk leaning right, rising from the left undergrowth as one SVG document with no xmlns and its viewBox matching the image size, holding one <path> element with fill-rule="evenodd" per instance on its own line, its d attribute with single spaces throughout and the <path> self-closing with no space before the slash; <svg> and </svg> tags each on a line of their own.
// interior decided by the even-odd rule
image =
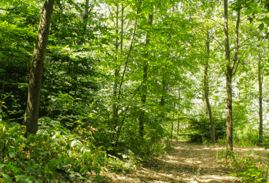
<svg viewBox="0 0 269 183">
<path fill-rule="evenodd" d="M 35 135 L 37 132 L 44 55 L 49 39 L 49 26 L 51 23 L 51 15 L 53 11 L 54 0 L 45 0 L 41 11 L 41 19 L 39 22 L 39 33 L 36 39 L 33 59 L 31 61 L 28 98 L 24 116 L 24 125 L 26 125 L 25 136 L 27 136 L 27 133 Z"/>
</svg>

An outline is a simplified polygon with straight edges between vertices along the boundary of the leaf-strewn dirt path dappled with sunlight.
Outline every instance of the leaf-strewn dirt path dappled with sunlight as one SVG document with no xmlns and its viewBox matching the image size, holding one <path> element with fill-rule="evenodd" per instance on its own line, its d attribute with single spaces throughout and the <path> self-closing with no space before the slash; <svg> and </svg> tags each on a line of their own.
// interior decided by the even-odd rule
<svg viewBox="0 0 269 183">
<path fill-rule="evenodd" d="M 107 174 L 106 182 L 238 182 L 218 164 L 215 155 L 220 148 L 176 141 L 172 145 L 165 157 L 127 174 Z"/>
</svg>

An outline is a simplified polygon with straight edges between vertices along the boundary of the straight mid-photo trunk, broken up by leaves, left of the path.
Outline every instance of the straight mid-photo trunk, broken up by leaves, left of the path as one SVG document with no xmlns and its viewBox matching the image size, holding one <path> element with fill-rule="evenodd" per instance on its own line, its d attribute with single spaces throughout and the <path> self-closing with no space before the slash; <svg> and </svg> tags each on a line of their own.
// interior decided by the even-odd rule
<svg viewBox="0 0 269 183">
<path fill-rule="evenodd" d="M 153 21 L 153 13 L 149 14 L 148 17 L 148 25 L 152 25 L 152 21 Z M 146 34 L 146 46 L 149 44 L 150 41 L 150 36 L 149 33 Z M 148 51 L 145 53 L 145 59 L 144 59 L 144 66 L 143 66 L 143 80 L 146 80 L 146 78 L 148 78 Z M 144 84 L 142 87 L 142 97 L 141 97 L 141 101 L 143 103 L 146 103 L 146 93 L 147 93 L 147 85 Z M 140 137 L 143 138 L 143 132 L 144 132 L 144 122 L 145 122 L 145 113 L 142 110 L 141 114 L 140 114 L 140 119 L 139 119 L 139 135 Z"/>
</svg>

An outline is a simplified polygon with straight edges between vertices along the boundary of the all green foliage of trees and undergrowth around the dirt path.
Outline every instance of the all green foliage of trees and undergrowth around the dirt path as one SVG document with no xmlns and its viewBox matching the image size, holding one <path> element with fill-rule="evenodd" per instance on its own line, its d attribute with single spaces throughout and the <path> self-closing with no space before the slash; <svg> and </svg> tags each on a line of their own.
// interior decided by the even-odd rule
<svg viewBox="0 0 269 183">
<path fill-rule="evenodd" d="M 83 181 L 93 176 L 97 181 L 101 171 L 126 172 L 137 162 L 168 151 L 168 138 L 176 136 L 172 124 L 175 129 L 177 122 L 176 138 L 185 135 L 191 142 L 210 143 L 205 61 L 215 136 L 224 144 L 221 1 L 86 2 L 55 1 L 44 58 L 39 131 L 27 139 L 23 114 L 42 1 L 0 2 L 2 179 L 51 182 L 64 174 Z M 235 66 L 233 79 L 234 142 L 256 145 L 256 62 L 263 52 L 263 69 L 268 70 L 268 3 L 231 1 L 229 6 L 230 35 L 235 31 L 233 11 L 242 11 L 240 64 Z M 152 25 L 149 14 L 153 14 Z M 230 36 L 231 42 L 234 39 Z M 210 43 L 209 50 L 205 42 Z M 269 84 L 266 74 L 263 83 Z M 146 102 L 141 101 L 143 95 Z M 268 112 L 268 89 L 263 95 L 263 111 Z M 139 133 L 141 112 L 143 137 Z M 268 142 L 268 137 L 264 140 Z M 245 166 L 262 171 L 253 169 L 251 161 Z"/>
</svg>

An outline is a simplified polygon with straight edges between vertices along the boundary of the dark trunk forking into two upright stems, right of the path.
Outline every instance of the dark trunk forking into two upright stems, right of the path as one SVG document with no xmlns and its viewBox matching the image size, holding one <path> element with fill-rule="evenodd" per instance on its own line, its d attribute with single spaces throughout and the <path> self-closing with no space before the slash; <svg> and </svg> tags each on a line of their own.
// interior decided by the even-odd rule
<svg viewBox="0 0 269 183">
<path fill-rule="evenodd" d="M 233 68 L 235 64 L 238 66 L 238 29 L 240 23 L 240 9 L 237 11 L 237 21 L 235 28 L 235 55 L 233 61 L 230 61 L 230 46 L 229 46 L 229 33 L 228 33 L 228 0 L 224 0 L 224 32 L 225 32 L 225 63 L 226 63 L 226 157 L 232 155 L 233 152 L 233 95 L 232 95 L 232 78 L 235 73 L 233 73 Z M 236 66 L 236 67 L 237 67 Z M 236 69 L 235 69 L 236 72 Z"/>
</svg>

